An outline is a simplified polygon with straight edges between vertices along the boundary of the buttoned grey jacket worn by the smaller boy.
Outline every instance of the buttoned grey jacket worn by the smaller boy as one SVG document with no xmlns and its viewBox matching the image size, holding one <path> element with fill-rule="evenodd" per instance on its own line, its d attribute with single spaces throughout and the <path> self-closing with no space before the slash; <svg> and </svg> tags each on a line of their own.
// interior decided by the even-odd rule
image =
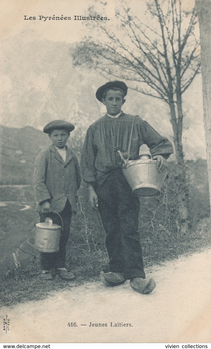
<svg viewBox="0 0 211 349">
<path fill-rule="evenodd" d="M 81 174 L 76 155 L 65 147 L 65 162 L 53 144 L 42 150 L 35 160 L 33 188 L 38 212 L 41 212 L 39 204 L 48 200 L 52 209 L 60 213 L 68 199 L 72 212 L 76 213 L 76 194 L 80 187 Z"/>
</svg>

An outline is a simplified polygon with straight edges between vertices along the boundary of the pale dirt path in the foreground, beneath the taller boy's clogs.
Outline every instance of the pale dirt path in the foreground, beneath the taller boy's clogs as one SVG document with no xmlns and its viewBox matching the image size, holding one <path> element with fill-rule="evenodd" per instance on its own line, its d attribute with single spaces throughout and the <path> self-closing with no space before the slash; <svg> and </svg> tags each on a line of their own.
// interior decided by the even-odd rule
<svg viewBox="0 0 211 349">
<path fill-rule="evenodd" d="M 0 332 L 1 342 L 210 342 L 210 270 L 208 250 L 146 269 L 157 283 L 149 295 L 136 293 L 128 281 L 111 288 L 97 280 L 42 301 L 4 307 L 1 321 L 7 314 L 10 328 L 7 334 Z M 68 326 L 69 322 L 77 327 Z M 90 327 L 90 323 L 107 326 Z M 131 326 L 114 326 L 122 323 Z"/>
</svg>

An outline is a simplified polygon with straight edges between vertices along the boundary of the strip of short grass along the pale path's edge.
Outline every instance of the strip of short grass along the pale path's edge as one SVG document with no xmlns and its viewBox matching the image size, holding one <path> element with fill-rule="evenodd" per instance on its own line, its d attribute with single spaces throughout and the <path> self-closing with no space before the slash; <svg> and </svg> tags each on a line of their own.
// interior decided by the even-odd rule
<svg viewBox="0 0 211 349">
<path fill-rule="evenodd" d="M 142 240 L 144 265 L 158 264 L 164 260 L 178 258 L 181 254 L 191 254 L 210 246 L 210 231 L 189 232 L 183 236 L 159 236 Z M 101 270 L 108 271 L 108 256 L 104 251 L 97 251 L 67 258 L 67 268 L 76 275 L 74 281 L 64 281 L 58 277 L 44 281 L 40 279 L 38 263 L 28 268 L 10 270 L 1 279 L 0 305 L 11 306 L 29 300 L 46 298 L 52 292 L 69 289 L 98 278 Z"/>
</svg>

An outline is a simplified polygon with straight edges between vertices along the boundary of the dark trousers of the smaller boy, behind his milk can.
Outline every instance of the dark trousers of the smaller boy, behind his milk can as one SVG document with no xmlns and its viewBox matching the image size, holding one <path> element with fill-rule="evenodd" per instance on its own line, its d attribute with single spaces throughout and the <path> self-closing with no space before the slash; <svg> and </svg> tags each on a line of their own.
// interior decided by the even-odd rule
<svg viewBox="0 0 211 349">
<path fill-rule="evenodd" d="M 59 213 L 63 221 L 63 230 L 61 230 L 61 236 L 59 241 L 58 252 L 40 252 L 40 265 L 44 270 L 49 270 L 54 267 L 64 268 L 66 258 L 66 246 L 70 236 L 70 223 L 72 218 L 72 210 L 69 200 L 67 200 L 62 212 Z M 45 218 L 50 217 L 54 224 L 62 226 L 61 218 L 54 212 L 41 213 L 40 222 L 45 222 Z"/>
</svg>

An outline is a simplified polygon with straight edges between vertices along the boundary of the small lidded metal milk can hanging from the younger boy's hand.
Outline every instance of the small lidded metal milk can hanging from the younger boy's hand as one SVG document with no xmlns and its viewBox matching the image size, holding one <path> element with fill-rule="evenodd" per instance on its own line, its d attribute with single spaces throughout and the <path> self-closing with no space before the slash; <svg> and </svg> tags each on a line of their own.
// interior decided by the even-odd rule
<svg viewBox="0 0 211 349">
<path fill-rule="evenodd" d="M 55 212 L 55 211 L 52 211 Z M 55 212 L 57 213 L 57 212 Z M 59 215 L 57 213 L 57 215 Z M 60 216 L 60 215 L 59 215 Z M 37 218 L 39 215 L 37 216 Z M 36 220 L 37 220 L 36 218 Z M 61 218 L 61 216 L 60 216 Z M 53 224 L 52 219 L 46 218 L 45 222 L 37 223 L 35 220 L 35 237 L 34 247 L 40 252 L 57 252 L 59 250 L 59 240 L 62 227 L 58 224 Z"/>
</svg>

